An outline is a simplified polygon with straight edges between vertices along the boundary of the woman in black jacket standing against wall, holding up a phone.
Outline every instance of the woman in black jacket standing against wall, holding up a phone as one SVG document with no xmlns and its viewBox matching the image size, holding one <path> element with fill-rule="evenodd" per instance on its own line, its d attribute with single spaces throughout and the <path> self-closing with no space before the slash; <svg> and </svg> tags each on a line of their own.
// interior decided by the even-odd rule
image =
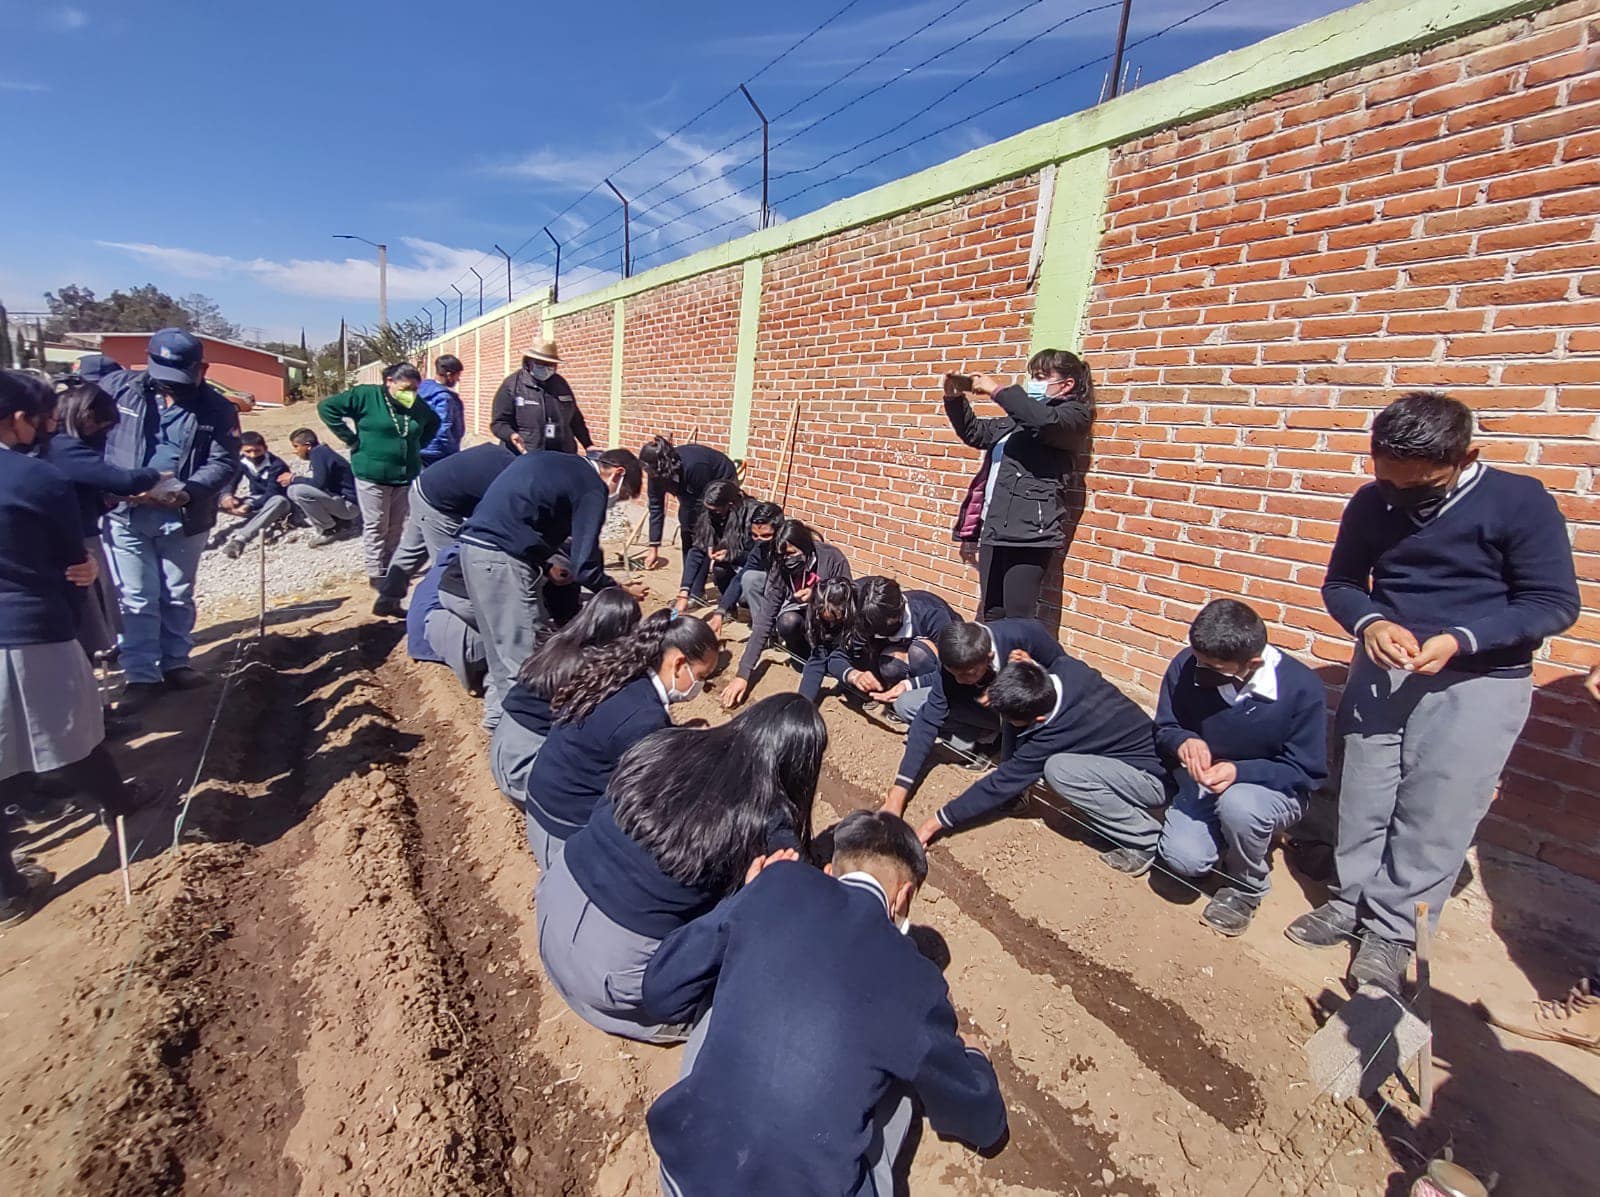
<svg viewBox="0 0 1600 1197">
<path fill-rule="evenodd" d="M 1066 493 L 1094 422 L 1090 368 L 1066 349 L 1027 362 L 1027 386 L 982 374 L 944 376 L 944 414 L 963 442 L 984 450 L 984 483 L 968 490 L 957 539 L 981 522 L 979 619 L 1030 619 L 1051 555 L 1066 544 Z M 1005 416 L 979 419 L 971 395 L 992 398 Z"/>
</svg>

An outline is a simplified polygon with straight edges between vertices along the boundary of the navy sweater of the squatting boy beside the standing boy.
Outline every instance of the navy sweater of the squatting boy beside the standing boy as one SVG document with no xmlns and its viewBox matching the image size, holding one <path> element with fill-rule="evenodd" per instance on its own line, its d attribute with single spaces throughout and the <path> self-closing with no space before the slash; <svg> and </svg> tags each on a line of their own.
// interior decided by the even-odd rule
<svg viewBox="0 0 1600 1197">
<path fill-rule="evenodd" d="M 1262 666 L 1266 667 L 1266 666 Z M 1176 781 L 1189 773 L 1178 749 L 1198 736 L 1213 760 L 1232 762 L 1237 781 L 1306 797 L 1328 776 L 1328 698 L 1322 679 L 1277 653 L 1277 698 L 1246 693 L 1234 706 L 1216 687 L 1195 685 L 1195 655 L 1181 651 L 1162 677 L 1155 744 Z"/>
</svg>

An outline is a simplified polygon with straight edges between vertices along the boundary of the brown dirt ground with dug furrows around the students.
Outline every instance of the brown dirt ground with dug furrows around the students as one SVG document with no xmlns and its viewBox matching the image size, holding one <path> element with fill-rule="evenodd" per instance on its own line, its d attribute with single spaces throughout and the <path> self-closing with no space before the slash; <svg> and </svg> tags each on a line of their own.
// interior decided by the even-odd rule
<svg viewBox="0 0 1600 1197">
<path fill-rule="evenodd" d="M 304 413 L 251 422 L 274 437 Z M 675 579 L 651 576 L 662 595 Z M 0 935 L 0 1192 L 658 1191 L 643 1114 L 678 1051 L 602 1035 L 544 984 L 536 866 L 477 704 L 368 605 L 360 579 L 325 578 L 280 600 L 261 642 L 254 610 L 203 611 L 200 664 L 226 693 L 174 695 L 118 744 L 168 795 L 130 826 L 131 906 L 94 819 L 32 842 L 58 883 Z M 757 695 L 794 685 L 770 664 Z M 722 719 L 714 696 L 675 714 Z M 875 803 L 899 754 L 838 698 L 822 714 L 819 826 Z M 941 765 L 914 813 L 966 779 Z M 1502 1197 L 1595 1191 L 1600 1056 L 1472 1010 L 1565 987 L 1592 893 L 1478 859 L 1438 941 L 1422 1117 L 1398 1079 L 1350 1106 L 1306 1080 L 1344 957 L 1283 939 L 1320 895 L 1282 864 L 1256 925 L 1224 941 L 1195 895 L 1110 874 L 1038 807 L 931 861 L 918 943 L 995 1045 L 1011 1143 L 979 1159 L 926 1135 L 914 1194 L 1400 1197 L 1446 1144 L 1502 1173 Z"/>
</svg>

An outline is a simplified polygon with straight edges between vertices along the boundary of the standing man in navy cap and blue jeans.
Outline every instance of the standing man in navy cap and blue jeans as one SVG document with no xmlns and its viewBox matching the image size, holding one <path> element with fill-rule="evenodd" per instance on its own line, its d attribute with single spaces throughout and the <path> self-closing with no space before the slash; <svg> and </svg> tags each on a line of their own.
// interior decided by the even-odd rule
<svg viewBox="0 0 1600 1197">
<path fill-rule="evenodd" d="M 238 413 L 205 382 L 200 341 L 178 328 L 150 338 L 149 366 L 109 374 L 101 386 L 117 400 L 106 461 L 118 469 L 171 474 L 155 502 L 123 504 L 110 514 L 110 558 L 122 600 L 118 709 L 136 711 L 166 688 L 205 685 L 189 666 L 194 650 L 195 571 L 218 499 L 238 472 Z"/>
</svg>

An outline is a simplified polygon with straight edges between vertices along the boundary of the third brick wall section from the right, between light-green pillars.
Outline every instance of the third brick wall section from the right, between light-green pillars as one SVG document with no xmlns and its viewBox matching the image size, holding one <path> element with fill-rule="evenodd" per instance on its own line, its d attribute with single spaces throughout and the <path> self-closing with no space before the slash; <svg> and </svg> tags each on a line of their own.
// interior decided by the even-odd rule
<svg viewBox="0 0 1600 1197">
<path fill-rule="evenodd" d="M 656 434 L 726 451 L 744 267 L 627 301 L 622 318 L 622 445 Z"/>
</svg>

